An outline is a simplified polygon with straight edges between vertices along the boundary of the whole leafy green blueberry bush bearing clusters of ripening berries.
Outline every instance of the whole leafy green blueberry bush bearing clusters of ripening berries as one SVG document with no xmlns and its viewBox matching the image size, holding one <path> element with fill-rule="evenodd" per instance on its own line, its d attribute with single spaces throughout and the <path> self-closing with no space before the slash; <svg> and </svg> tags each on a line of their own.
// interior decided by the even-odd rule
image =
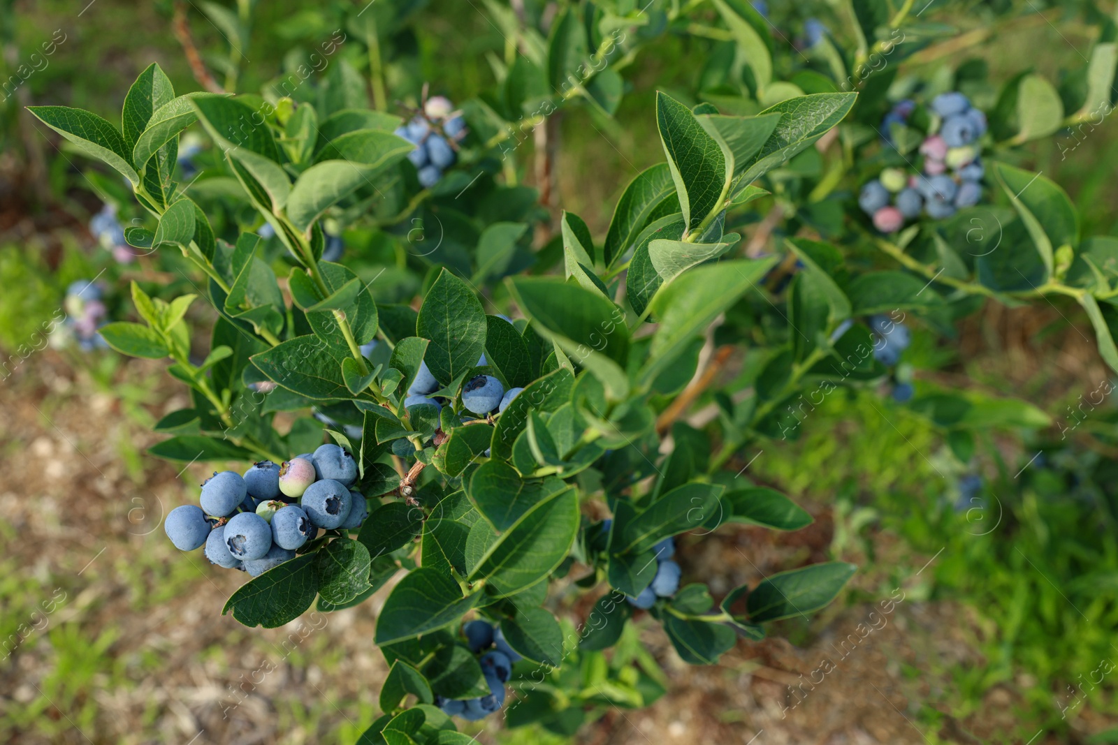
<svg viewBox="0 0 1118 745">
<path fill-rule="evenodd" d="M 226 20 L 247 36 L 241 4 Z M 1118 371 L 1118 241 L 1082 235 L 1060 185 L 1021 168 L 1026 143 L 1110 113 L 1111 18 L 1086 13 L 1099 40 L 1058 88 L 1031 73 L 997 86 L 978 63 L 902 75 L 954 35 L 911 1 L 807 18 L 740 0 L 547 18 L 494 2 L 513 40 L 496 89 L 456 106 L 424 85 L 391 105 L 381 66 L 405 54 L 407 4 L 348 15 L 320 49 L 352 34 L 371 99 L 344 59 L 238 95 L 230 61 L 224 89 L 184 95 L 151 65 L 120 126 L 30 107 L 115 171 L 94 180 L 101 243 L 173 277 L 133 279 L 132 311 L 108 323 L 105 281 L 75 283 L 67 327 L 83 348 L 168 359 L 189 386 L 154 455 L 239 464 L 168 515 L 168 538 L 249 575 L 221 609 L 248 627 L 383 595 L 390 674 L 360 742 L 471 742 L 455 719 L 498 711 L 572 734 L 663 695 L 634 617 L 712 665 L 827 605 L 853 565 L 714 598 L 683 576 L 674 537 L 807 526 L 747 453 L 797 438 L 840 389 L 891 391 L 961 464 L 976 437 L 1049 423 L 916 379 L 912 326 L 949 343 L 983 300 L 1063 296 Z M 662 157 L 595 236 L 518 182 L 518 145 L 567 107 L 608 122 L 620 70 L 669 34 L 701 69 L 655 95 Z M 557 595 L 593 609 L 572 625 Z"/>
</svg>

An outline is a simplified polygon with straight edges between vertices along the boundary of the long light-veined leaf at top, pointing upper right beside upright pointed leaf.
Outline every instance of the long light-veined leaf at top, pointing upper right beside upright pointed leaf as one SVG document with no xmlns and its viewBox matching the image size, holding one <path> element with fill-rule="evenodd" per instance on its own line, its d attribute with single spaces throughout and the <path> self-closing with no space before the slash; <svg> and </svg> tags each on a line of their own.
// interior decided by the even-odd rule
<svg viewBox="0 0 1118 745">
<path fill-rule="evenodd" d="M 816 93 L 781 101 L 761 114 L 783 114 L 779 124 L 741 173 L 739 183 L 748 184 L 770 169 L 786 163 L 839 124 L 854 105 L 854 93 Z"/>
</svg>

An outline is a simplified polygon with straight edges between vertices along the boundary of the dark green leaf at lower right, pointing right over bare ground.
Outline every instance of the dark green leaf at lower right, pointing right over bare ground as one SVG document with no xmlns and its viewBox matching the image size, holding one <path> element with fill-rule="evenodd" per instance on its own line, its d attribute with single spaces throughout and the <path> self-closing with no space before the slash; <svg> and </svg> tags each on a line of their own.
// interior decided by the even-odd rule
<svg viewBox="0 0 1118 745">
<path fill-rule="evenodd" d="M 834 600 L 855 571 L 853 564 L 827 562 L 773 574 L 749 593 L 749 618 L 755 623 L 806 618 Z"/>
</svg>

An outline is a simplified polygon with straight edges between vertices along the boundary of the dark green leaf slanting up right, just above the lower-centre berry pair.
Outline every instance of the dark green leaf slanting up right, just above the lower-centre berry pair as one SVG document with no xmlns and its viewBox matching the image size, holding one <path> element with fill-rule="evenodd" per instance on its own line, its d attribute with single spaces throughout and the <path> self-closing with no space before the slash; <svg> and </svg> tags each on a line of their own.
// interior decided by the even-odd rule
<svg viewBox="0 0 1118 745">
<path fill-rule="evenodd" d="M 643 554 L 669 536 L 692 531 L 719 512 L 721 484 L 684 484 L 654 502 L 614 535 L 609 550 L 616 554 Z"/>
</svg>

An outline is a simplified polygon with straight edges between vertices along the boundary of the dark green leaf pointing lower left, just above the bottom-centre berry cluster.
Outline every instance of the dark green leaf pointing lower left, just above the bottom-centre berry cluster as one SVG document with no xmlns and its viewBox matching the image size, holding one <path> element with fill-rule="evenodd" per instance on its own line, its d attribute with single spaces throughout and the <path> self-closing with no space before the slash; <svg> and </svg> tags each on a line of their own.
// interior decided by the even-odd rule
<svg viewBox="0 0 1118 745">
<path fill-rule="evenodd" d="M 385 600 L 375 641 L 388 644 L 455 623 L 481 595 L 475 592 L 463 598 L 458 583 L 436 570 L 409 572 Z"/>
</svg>

